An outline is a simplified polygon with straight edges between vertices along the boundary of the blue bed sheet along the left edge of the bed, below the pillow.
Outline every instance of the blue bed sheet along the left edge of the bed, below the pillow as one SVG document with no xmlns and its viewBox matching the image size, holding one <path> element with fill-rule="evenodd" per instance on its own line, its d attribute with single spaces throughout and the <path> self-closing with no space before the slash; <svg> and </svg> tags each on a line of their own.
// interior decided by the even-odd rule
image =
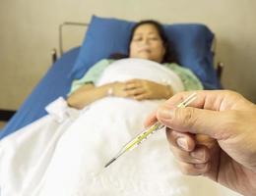
<svg viewBox="0 0 256 196">
<path fill-rule="evenodd" d="M 70 72 L 73 68 L 80 47 L 65 53 L 43 76 L 32 94 L 27 98 L 15 116 L 0 132 L 0 139 L 15 130 L 34 122 L 46 115 L 44 107 L 59 96 L 66 96 L 73 78 Z"/>
</svg>

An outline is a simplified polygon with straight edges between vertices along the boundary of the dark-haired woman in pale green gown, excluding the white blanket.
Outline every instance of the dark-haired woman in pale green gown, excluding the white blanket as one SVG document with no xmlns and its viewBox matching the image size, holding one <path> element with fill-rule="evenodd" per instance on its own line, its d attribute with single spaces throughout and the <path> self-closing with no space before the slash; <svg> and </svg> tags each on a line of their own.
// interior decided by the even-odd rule
<svg viewBox="0 0 256 196">
<path fill-rule="evenodd" d="M 167 77 L 154 81 L 151 76 L 146 79 L 130 75 L 130 77 L 123 77 L 121 80 L 113 78 L 108 83 L 96 85 L 101 73 L 114 62 L 114 60 L 102 60 L 83 78 L 74 81 L 72 92 L 75 92 L 68 99 L 69 105 L 82 109 L 107 95 L 135 100 L 167 99 L 177 91 L 202 89 L 201 82 L 193 73 L 175 64 L 174 52 L 171 51 L 163 29 L 154 21 L 145 21 L 135 25 L 130 38 L 128 57 L 159 63 L 162 65 L 162 69 L 172 71 L 173 75 L 175 74 L 172 78 L 175 77 L 175 79 L 170 80 Z M 138 64 L 138 69 L 140 67 Z"/>
</svg>

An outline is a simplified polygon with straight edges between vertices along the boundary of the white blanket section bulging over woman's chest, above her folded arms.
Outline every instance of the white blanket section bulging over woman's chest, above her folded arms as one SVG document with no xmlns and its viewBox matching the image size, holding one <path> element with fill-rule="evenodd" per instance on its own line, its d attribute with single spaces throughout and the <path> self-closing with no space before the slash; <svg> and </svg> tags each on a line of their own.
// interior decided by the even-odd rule
<svg viewBox="0 0 256 196">
<path fill-rule="evenodd" d="M 123 59 L 112 63 L 100 76 L 97 85 L 141 78 L 170 84 L 174 93 L 184 90 L 179 76 L 159 63 L 144 59 Z"/>
</svg>

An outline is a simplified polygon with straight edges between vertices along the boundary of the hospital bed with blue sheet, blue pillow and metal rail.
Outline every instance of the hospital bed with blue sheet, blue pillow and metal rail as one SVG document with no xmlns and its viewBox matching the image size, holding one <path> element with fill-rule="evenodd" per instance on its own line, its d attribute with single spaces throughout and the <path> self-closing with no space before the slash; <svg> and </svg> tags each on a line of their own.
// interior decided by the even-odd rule
<svg viewBox="0 0 256 196">
<path fill-rule="evenodd" d="M 81 46 L 63 52 L 62 30 L 64 26 L 72 25 L 85 26 L 87 34 Z M 2 129 L 0 138 L 46 115 L 44 107 L 59 96 L 66 97 L 72 80 L 81 77 L 96 61 L 107 58 L 112 52 L 127 52 L 125 51 L 129 36 L 127 31 L 132 25 L 134 23 L 96 16 L 93 17 L 90 25 L 79 23 L 60 25 L 60 57 L 57 59 L 54 50 L 53 65 Z M 173 39 L 181 65 L 196 73 L 206 89 L 221 88 L 222 67 L 218 70 L 214 68 L 216 44 L 213 32 L 206 25 L 201 24 L 164 25 L 164 28 L 167 35 L 171 32 L 170 38 Z"/>
</svg>

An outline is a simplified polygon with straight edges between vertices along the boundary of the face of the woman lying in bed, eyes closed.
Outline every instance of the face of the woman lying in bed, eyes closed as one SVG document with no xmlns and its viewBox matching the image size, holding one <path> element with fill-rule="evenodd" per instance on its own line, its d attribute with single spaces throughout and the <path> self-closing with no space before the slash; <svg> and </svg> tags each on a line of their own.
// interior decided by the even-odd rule
<svg viewBox="0 0 256 196">
<path fill-rule="evenodd" d="M 140 25 L 130 43 L 130 58 L 148 59 L 161 63 L 165 54 L 160 34 L 155 25 Z"/>
</svg>

